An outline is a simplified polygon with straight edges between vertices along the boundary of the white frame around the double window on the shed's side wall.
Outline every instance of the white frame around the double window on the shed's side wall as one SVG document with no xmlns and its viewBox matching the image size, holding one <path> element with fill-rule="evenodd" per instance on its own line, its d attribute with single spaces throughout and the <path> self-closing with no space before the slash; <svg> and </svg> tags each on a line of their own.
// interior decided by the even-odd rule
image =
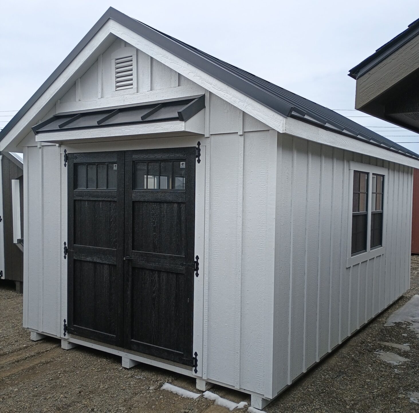
<svg viewBox="0 0 419 413">
<path fill-rule="evenodd" d="M 368 210 L 367 210 L 367 251 L 352 256 L 352 196 L 354 190 L 354 171 L 368 173 Z M 371 199 L 372 199 L 372 174 L 384 176 L 383 188 L 383 242 L 380 247 L 371 248 Z M 375 165 L 368 165 L 360 162 L 349 162 L 349 198 L 348 198 L 348 244 L 346 266 L 360 264 L 371 258 L 385 254 L 385 233 L 387 222 L 387 187 L 388 187 L 388 169 Z"/>
</svg>

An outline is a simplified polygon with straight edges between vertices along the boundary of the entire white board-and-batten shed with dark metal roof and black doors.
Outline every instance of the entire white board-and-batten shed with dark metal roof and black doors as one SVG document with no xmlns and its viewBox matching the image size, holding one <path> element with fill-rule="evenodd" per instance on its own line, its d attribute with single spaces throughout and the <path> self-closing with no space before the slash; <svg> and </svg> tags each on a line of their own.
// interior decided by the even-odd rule
<svg viewBox="0 0 419 413">
<path fill-rule="evenodd" d="M 409 288 L 417 154 L 113 8 L 0 137 L 33 340 L 263 408 Z"/>
</svg>

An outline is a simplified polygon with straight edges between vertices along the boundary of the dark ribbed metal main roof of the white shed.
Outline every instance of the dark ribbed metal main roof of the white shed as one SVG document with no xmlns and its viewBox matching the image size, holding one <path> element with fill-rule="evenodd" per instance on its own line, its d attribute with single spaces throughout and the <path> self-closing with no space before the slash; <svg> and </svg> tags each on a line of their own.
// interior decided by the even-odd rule
<svg viewBox="0 0 419 413">
<path fill-rule="evenodd" d="M 407 157 L 419 159 L 418 154 L 409 151 L 403 146 L 384 138 L 378 133 L 372 132 L 370 129 L 367 129 L 342 115 L 339 115 L 333 110 L 311 102 L 308 99 L 287 91 L 286 89 L 259 78 L 258 76 L 208 55 L 207 53 L 202 52 L 189 44 L 181 42 L 180 40 L 168 36 L 161 31 L 155 30 L 140 21 L 130 18 L 112 7 L 106 11 L 106 13 L 99 19 L 88 34 L 83 37 L 75 49 L 73 49 L 67 58 L 65 58 L 65 60 L 58 66 L 54 73 L 49 76 L 47 81 L 44 82 L 44 84 L 35 92 L 28 102 L 26 102 L 22 109 L 3 128 L 3 131 L 0 132 L 0 139 L 2 139 L 8 131 L 10 131 L 13 125 L 15 125 L 16 122 L 23 116 L 26 110 L 34 104 L 34 102 L 49 87 L 49 85 L 52 84 L 59 74 L 67 67 L 70 61 L 75 58 L 80 50 L 83 49 L 88 41 L 109 18 L 283 116 L 297 118 L 304 122 L 313 123 L 318 127 L 325 128 L 345 136 L 350 136 L 354 139 L 358 139 L 375 146 L 383 147 L 390 151 L 403 154 Z"/>
</svg>

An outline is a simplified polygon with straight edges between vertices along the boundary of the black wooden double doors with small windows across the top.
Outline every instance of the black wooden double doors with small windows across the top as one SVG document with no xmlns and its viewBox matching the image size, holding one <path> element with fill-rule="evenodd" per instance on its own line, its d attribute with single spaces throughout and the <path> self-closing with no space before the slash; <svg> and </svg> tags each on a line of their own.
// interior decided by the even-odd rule
<svg viewBox="0 0 419 413">
<path fill-rule="evenodd" d="M 68 155 L 68 329 L 192 365 L 195 148 Z"/>
</svg>

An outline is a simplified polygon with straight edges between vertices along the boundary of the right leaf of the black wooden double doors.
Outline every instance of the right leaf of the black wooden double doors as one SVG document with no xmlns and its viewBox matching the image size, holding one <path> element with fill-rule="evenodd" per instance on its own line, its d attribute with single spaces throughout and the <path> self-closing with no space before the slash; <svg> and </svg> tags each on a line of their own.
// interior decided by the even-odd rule
<svg viewBox="0 0 419 413">
<path fill-rule="evenodd" d="M 125 339 L 191 365 L 195 149 L 125 154 Z"/>
</svg>

